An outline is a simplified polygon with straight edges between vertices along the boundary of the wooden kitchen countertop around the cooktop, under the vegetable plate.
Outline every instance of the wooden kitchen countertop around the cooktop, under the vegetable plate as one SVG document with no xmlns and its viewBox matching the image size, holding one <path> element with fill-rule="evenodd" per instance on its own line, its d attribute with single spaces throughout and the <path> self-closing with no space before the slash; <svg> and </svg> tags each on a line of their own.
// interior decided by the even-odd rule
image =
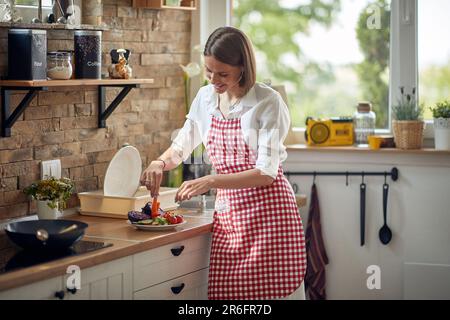
<svg viewBox="0 0 450 320">
<path fill-rule="evenodd" d="M 78 220 L 89 224 L 83 240 L 108 242 L 112 243 L 113 246 L 4 273 L 0 275 L 0 291 L 64 275 L 70 265 L 77 265 L 81 269 L 88 268 L 211 232 L 211 216 L 190 215 L 190 211 L 185 209 L 177 211 L 185 216 L 186 224 L 177 227 L 175 230 L 156 232 L 136 230 L 128 225 L 124 219 L 91 217 L 79 214 L 64 216 L 64 219 Z"/>
</svg>

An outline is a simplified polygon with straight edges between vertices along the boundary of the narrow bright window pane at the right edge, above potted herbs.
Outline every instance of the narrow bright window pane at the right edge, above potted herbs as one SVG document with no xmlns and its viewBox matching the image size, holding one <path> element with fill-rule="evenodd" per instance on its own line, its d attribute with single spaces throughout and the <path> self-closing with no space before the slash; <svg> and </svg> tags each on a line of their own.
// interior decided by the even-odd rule
<svg viewBox="0 0 450 320">
<path fill-rule="evenodd" d="M 436 102 L 450 99 L 450 1 L 418 1 L 419 101 L 425 119 Z"/>
</svg>

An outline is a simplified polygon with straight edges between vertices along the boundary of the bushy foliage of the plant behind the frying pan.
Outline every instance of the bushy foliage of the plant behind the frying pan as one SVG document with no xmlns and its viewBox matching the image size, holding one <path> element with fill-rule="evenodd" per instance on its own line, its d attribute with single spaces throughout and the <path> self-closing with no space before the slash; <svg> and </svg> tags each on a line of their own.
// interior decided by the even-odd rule
<svg viewBox="0 0 450 320">
<path fill-rule="evenodd" d="M 26 195 L 33 197 L 35 200 L 48 201 L 50 208 L 58 208 L 59 210 L 66 208 L 67 200 L 74 191 L 75 187 L 72 180 L 69 178 L 56 179 L 55 177 L 33 182 L 23 189 Z"/>
</svg>

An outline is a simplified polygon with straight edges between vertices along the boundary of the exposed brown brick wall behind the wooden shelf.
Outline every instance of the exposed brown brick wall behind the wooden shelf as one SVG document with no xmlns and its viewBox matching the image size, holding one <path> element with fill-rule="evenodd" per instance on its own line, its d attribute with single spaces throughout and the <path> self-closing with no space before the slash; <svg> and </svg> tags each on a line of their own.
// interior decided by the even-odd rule
<svg viewBox="0 0 450 320">
<path fill-rule="evenodd" d="M 136 146 L 143 166 L 170 144 L 170 135 L 184 121 L 184 87 L 179 64 L 190 57 L 191 14 L 178 10 L 136 9 L 131 0 L 103 0 L 102 21 L 110 26 L 102 36 L 103 73 L 113 48 L 131 50 L 133 76 L 155 83 L 133 89 L 97 128 L 94 87 L 65 87 L 40 92 L 12 127 L 0 137 L 0 220 L 35 212 L 22 189 L 40 176 L 40 162 L 61 159 L 63 175 L 75 181 L 77 192 L 100 189 L 109 161 L 121 145 Z M 0 73 L 7 71 L 8 30 L 0 28 Z M 73 49 L 73 33 L 47 32 L 48 50 Z M 118 90 L 107 90 L 107 101 Z M 24 96 L 15 94 L 11 105 Z M 73 196 L 69 206 L 78 205 Z"/>
</svg>

